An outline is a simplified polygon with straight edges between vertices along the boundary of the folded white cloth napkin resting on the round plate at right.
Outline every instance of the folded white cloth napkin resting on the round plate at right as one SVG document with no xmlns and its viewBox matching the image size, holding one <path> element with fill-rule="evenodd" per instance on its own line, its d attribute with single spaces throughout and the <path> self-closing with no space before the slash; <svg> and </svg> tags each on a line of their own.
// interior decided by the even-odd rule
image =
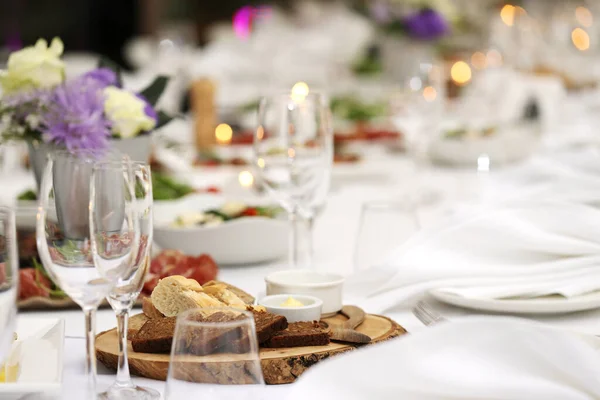
<svg viewBox="0 0 600 400">
<path fill-rule="evenodd" d="M 431 289 L 482 298 L 577 296 L 600 288 L 600 210 L 523 200 L 457 212 L 351 277 L 349 298 L 384 312 Z"/>
</svg>

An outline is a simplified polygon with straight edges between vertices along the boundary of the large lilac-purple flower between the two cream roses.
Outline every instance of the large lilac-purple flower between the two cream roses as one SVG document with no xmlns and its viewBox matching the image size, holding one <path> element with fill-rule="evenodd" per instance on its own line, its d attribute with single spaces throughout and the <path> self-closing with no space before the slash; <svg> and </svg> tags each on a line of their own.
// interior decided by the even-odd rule
<svg viewBox="0 0 600 400">
<path fill-rule="evenodd" d="M 108 148 L 111 126 L 104 116 L 105 83 L 86 74 L 55 88 L 42 115 L 44 141 L 69 151 Z"/>
</svg>

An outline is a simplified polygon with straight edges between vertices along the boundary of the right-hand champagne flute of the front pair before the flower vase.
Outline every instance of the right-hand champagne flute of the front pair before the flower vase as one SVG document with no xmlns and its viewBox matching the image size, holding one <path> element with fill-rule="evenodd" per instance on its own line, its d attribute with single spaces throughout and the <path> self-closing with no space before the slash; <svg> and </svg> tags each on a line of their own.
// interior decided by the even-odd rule
<svg viewBox="0 0 600 400">
<path fill-rule="evenodd" d="M 112 172 L 111 172 L 112 171 Z M 117 330 L 119 333 L 119 361 L 117 378 L 108 390 L 100 394 L 102 399 L 159 399 L 160 393 L 153 389 L 136 386 L 131 380 L 129 363 L 127 361 L 127 325 L 129 313 L 139 296 L 146 274 L 150 268 L 150 246 L 152 244 L 152 178 L 150 167 L 142 162 L 106 162 L 94 166 L 92 183 L 94 190 L 103 193 L 115 193 L 114 180 L 107 181 L 106 176 L 116 175 L 117 181 L 126 186 L 125 208 L 131 208 L 133 218 L 139 227 L 139 248 L 131 271 L 121 277 L 116 286 L 107 296 L 107 300 L 117 315 Z M 123 178 L 119 178 L 122 176 Z M 98 204 L 90 203 L 90 213 L 94 219 L 105 220 L 107 216 Z M 115 238 L 115 233 L 106 230 L 103 224 L 92 224 L 92 251 L 99 262 L 113 257 L 105 249 L 120 246 L 120 239 L 127 240 L 126 235 Z M 127 232 L 125 232 L 127 233 Z M 117 247 L 118 249 L 118 247 Z M 134 249 L 135 250 L 135 249 Z"/>
</svg>

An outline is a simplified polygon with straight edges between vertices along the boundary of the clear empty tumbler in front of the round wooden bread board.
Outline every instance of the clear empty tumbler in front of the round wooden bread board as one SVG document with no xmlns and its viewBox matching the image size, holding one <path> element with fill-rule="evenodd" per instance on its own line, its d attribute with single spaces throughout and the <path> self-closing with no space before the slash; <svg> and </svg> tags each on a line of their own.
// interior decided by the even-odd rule
<svg viewBox="0 0 600 400">
<path fill-rule="evenodd" d="M 252 314 L 233 308 L 203 311 L 177 317 L 165 399 L 262 398 L 264 379 Z"/>
</svg>

